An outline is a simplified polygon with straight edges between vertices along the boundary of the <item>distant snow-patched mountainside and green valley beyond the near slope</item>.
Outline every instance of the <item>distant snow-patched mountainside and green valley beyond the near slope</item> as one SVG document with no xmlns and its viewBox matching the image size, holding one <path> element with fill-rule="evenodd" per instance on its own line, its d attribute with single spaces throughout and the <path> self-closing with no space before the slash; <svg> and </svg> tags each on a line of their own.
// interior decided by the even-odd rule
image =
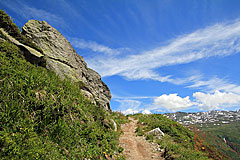
<svg viewBox="0 0 240 160">
<path fill-rule="evenodd" d="M 240 158 L 240 110 L 168 113 L 230 159 Z"/>
</svg>

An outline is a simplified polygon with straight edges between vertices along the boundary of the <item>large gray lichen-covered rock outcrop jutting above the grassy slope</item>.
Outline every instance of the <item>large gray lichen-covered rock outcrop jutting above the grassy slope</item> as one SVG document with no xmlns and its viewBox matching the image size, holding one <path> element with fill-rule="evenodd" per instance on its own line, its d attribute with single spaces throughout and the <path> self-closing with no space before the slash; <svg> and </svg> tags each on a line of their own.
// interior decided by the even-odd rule
<svg viewBox="0 0 240 160">
<path fill-rule="evenodd" d="M 53 70 L 61 78 L 68 77 L 74 82 L 83 82 L 82 94 L 105 110 L 111 110 L 109 88 L 97 72 L 87 67 L 83 57 L 76 53 L 61 33 L 47 22 L 37 20 L 28 21 L 22 31 L 43 50 L 49 70 Z"/>
</svg>

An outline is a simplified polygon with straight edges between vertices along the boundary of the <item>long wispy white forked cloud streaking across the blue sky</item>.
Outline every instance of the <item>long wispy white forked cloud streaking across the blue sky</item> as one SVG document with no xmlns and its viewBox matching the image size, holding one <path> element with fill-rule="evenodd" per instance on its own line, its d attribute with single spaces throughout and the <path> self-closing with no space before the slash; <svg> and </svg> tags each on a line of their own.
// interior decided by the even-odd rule
<svg viewBox="0 0 240 160">
<path fill-rule="evenodd" d="M 88 65 L 103 77 L 120 75 L 129 80 L 152 79 L 173 84 L 189 84 L 190 87 L 208 86 L 209 89 L 232 90 L 236 86 L 218 78 L 218 86 L 212 83 L 216 79 L 202 81 L 194 77 L 174 78 L 172 75 L 160 75 L 155 69 L 164 66 L 190 63 L 203 58 L 224 57 L 240 52 L 240 20 L 232 23 L 216 24 L 179 36 L 168 45 L 149 51 L 127 56 L 96 56 L 87 59 Z M 221 83 L 220 83 L 221 81 Z M 217 88 L 216 88 L 217 87 Z M 237 86 L 238 87 L 238 86 Z M 240 87 L 235 89 L 240 91 Z"/>
</svg>

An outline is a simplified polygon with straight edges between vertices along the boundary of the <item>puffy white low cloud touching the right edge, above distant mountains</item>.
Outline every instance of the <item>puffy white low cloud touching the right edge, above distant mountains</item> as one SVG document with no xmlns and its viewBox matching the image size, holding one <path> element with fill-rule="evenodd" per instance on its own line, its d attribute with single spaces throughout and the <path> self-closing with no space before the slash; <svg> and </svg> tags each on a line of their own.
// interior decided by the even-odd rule
<svg viewBox="0 0 240 160">
<path fill-rule="evenodd" d="M 196 98 L 198 105 L 202 109 L 214 110 L 225 109 L 234 106 L 240 106 L 240 95 L 215 91 L 213 94 L 195 92 L 193 97 Z"/>
</svg>

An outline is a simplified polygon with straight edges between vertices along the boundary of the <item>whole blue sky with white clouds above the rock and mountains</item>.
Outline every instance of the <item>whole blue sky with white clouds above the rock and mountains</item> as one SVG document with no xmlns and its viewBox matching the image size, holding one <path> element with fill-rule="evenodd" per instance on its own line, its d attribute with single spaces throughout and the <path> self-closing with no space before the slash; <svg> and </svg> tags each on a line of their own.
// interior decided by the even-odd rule
<svg viewBox="0 0 240 160">
<path fill-rule="evenodd" d="M 124 113 L 240 107 L 239 0 L 1 0 L 45 20 L 99 72 Z"/>
</svg>

